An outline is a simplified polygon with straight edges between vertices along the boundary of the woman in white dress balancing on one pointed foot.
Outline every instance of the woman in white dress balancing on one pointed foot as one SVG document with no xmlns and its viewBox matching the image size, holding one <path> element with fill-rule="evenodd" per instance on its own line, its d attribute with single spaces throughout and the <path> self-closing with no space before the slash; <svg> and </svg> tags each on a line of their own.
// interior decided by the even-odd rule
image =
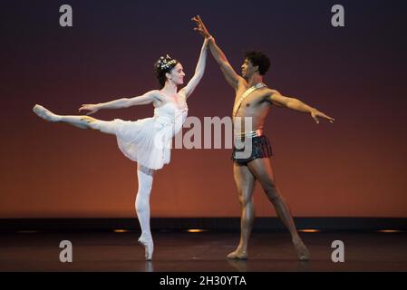
<svg viewBox="0 0 407 290">
<path fill-rule="evenodd" d="M 141 226 L 139 243 L 145 247 L 146 260 L 152 259 L 154 243 L 150 231 L 150 191 L 156 170 L 170 162 L 171 140 L 177 134 L 188 115 L 187 99 L 195 90 L 205 72 L 208 54 L 208 39 L 204 40 L 194 76 L 178 92 L 184 83 L 185 73 L 179 61 L 168 54 L 161 56 L 154 64 L 154 72 L 160 82 L 160 90 L 146 92 L 133 98 L 122 98 L 98 104 L 82 104 L 79 111 L 89 111 L 82 116 L 54 114 L 36 104 L 35 114 L 45 121 L 63 122 L 81 129 L 92 129 L 115 135 L 121 152 L 138 163 L 139 189 L 136 198 L 136 212 Z M 88 115 L 101 109 L 121 109 L 152 103 L 154 116 L 138 121 L 101 121 Z"/>
</svg>

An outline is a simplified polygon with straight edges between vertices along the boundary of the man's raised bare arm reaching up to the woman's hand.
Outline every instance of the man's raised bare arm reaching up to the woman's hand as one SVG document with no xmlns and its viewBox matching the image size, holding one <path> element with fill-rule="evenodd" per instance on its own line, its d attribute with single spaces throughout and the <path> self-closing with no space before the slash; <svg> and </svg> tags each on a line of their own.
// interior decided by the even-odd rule
<svg viewBox="0 0 407 290">
<path fill-rule="evenodd" d="M 197 24 L 197 27 L 194 30 L 198 31 L 199 34 L 202 34 L 206 39 L 209 41 L 209 49 L 210 53 L 212 53 L 213 57 L 220 65 L 220 69 L 222 70 L 223 75 L 225 76 L 228 83 L 237 90 L 238 82 L 244 79 L 239 76 L 233 67 L 228 62 L 228 58 L 226 57 L 225 53 L 218 47 L 218 44 L 215 42 L 213 36 L 211 36 L 208 32 L 207 27 L 203 24 L 202 19 L 200 16 L 195 16 L 192 20 Z"/>
</svg>

